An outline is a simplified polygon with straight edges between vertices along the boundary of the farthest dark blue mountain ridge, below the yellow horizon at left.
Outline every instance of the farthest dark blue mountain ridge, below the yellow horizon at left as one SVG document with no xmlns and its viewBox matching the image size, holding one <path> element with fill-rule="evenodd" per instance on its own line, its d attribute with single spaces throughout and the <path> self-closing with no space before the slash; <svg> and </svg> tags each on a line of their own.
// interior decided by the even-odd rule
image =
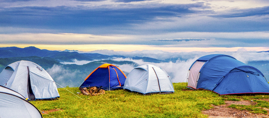
<svg viewBox="0 0 269 118">
<path fill-rule="evenodd" d="M 94 60 L 111 60 L 113 58 L 127 58 L 121 55 L 103 55 L 98 53 L 78 53 L 73 50 L 73 52 L 66 51 L 51 51 L 51 50 L 41 50 L 36 47 L 2 47 L 0 48 L 0 58 L 10 58 L 10 57 L 50 57 L 59 62 L 73 62 L 73 59 L 78 61 L 94 61 Z M 160 63 L 162 60 L 157 60 L 155 58 L 149 57 L 132 57 L 133 60 L 143 60 L 145 62 Z"/>
</svg>

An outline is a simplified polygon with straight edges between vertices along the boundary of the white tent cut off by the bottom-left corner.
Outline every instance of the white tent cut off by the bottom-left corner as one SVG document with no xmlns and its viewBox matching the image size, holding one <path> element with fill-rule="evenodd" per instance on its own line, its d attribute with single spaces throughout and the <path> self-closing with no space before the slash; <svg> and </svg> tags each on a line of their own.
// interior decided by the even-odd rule
<svg viewBox="0 0 269 118">
<path fill-rule="evenodd" d="M 0 86 L 1 118 L 42 118 L 38 109 L 19 93 Z"/>
</svg>

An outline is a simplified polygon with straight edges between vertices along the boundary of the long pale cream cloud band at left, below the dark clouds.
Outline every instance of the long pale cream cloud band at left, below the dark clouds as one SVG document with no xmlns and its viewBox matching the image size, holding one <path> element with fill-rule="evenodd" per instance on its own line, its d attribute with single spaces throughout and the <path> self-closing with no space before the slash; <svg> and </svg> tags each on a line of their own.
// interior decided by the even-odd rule
<svg viewBox="0 0 269 118">
<path fill-rule="evenodd" d="M 0 43 L 15 44 L 100 44 L 113 43 L 128 39 L 127 36 L 100 36 L 93 34 L 74 33 L 22 33 L 22 34 L 0 34 Z"/>
</svg>

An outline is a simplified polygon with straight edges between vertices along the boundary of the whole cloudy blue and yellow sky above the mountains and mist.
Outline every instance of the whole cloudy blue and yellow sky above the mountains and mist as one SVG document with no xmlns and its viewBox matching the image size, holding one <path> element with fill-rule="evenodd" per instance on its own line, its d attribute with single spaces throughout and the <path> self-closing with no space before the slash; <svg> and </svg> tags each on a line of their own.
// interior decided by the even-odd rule
<svg viewBox="0 0 269 118">
<path fill-rule="evenodd" d="M 267 0 L 0 0 L 0 47 L 269 50 Z"/>
</svg>

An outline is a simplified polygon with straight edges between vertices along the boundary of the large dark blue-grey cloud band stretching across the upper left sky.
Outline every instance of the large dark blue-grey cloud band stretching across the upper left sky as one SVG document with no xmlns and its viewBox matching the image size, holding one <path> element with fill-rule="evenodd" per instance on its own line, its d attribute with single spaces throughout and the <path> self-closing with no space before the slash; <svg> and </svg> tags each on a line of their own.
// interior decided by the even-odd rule
<svg viewBox="0 0 269 118">
<path fill-rule="evenodd" d="M 197 8 L 197 9 L 193 9 Z M 80 29 L 117 27 L 158 20 L 156 17 L 181 17 L 206 12 L 203 2 L 193 4 L 112 4 L 100 6 L 23 6 L 2 7 L 1 26 L 38 29 Z M 199 9 L 199 10 L 198 10 Z M 19 19 L 19 20 L 18 20 Z"/>
</svg>

